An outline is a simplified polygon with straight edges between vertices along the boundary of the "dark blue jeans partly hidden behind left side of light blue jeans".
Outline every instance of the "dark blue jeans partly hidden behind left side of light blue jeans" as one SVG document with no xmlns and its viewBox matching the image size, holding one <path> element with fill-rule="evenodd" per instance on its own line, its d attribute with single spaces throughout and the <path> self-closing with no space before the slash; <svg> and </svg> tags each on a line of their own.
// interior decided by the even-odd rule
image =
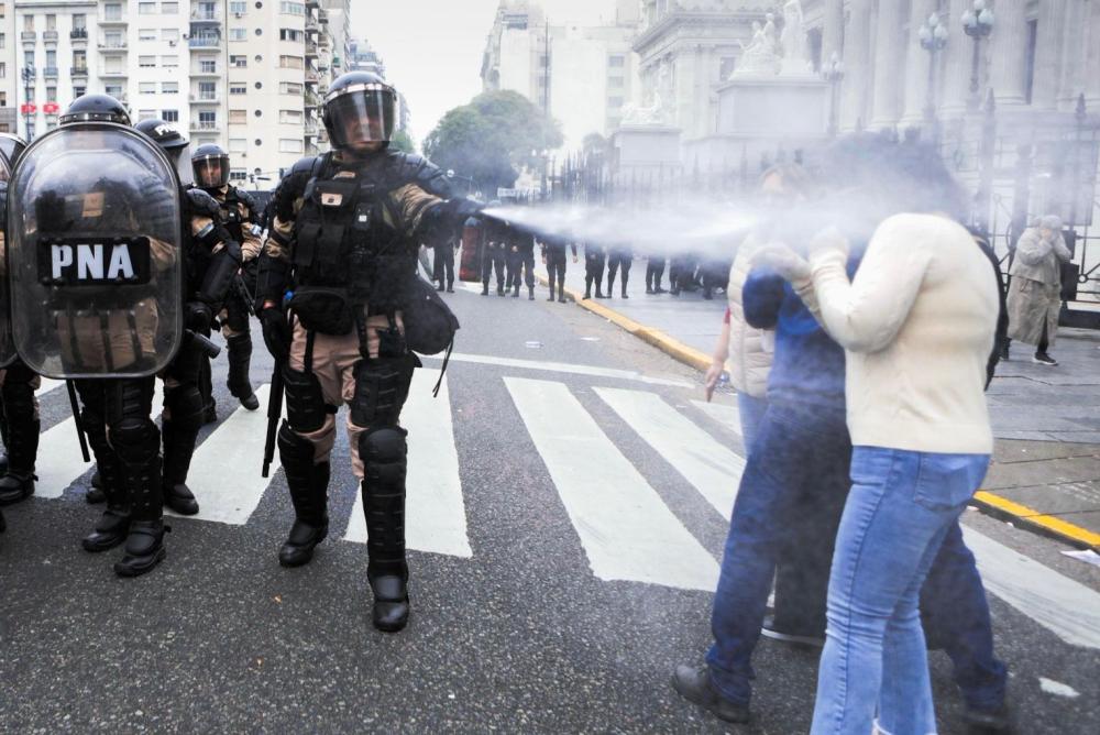
<svg viewBox="0 0 1100 735">
<path fill-rule="evenodd" d="M 732 702 L 747 705 L 751 696 L 750 659 L 776 562 L 795 541 L 805 561 L 792 567 L 792 595 L 782 604 L 809 618 L 825 617 L 828 560 L 850 457 L 843 407 L 768 403 L 734 504 L 711 615 L 714 645 L 706 662 L 712 682 Z"/>
</svg>

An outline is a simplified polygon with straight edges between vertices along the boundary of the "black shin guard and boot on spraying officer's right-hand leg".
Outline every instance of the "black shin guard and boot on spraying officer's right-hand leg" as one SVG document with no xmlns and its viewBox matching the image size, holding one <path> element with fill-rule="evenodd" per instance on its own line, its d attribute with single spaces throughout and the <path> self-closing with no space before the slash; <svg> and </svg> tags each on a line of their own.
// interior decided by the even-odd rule
<svg viewBox="0 0 1100 735">
<path fill-rule="evenodd" d="M 366 515 L 366 575 L 374 593 L 372 621 L 396 633 L 409 618 L 408 564 L 405 561 L 405 430 L 383 427 L 359 439 L 363 458 L 363 511 Z"/>
</svg>

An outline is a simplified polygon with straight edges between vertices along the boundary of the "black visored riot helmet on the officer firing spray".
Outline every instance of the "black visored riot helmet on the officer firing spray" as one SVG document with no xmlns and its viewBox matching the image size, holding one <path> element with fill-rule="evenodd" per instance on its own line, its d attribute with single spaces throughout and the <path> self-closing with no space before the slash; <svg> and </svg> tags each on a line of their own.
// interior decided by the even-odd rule
<svg viewBox="0 0 1100 735">
<path fill-rule="evenodd" d="M 397 92 L 372 72 L 349 72 L 329 86 L 321 119 L 332 147 L 362 151 L 364 143 L 386 147 L 394 134 Z"/>
</svg>

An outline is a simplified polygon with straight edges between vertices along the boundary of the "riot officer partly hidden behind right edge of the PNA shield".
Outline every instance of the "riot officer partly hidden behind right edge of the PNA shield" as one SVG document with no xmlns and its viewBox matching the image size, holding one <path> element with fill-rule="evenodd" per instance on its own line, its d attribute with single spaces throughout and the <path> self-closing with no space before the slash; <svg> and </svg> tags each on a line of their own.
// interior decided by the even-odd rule
<svg viewBox="0 0 1100 735">
<path fill-rule="evenodd" d="M 164 120 L 142 120 L 138 130 L 160 145 L 173 165 L 189 180 L 190 162 L 184 157 L 188 141 Z M 205 147 L 205 146 L 202 146 Z M 185 314 L 195 334 L 210 332 L 210 319 L 226 303 L 237 267 L 241 245 L 224 223 L 219 202 L 202 188 L 184 187 L 180 191 L 183 231 L 182 253 L 185 273 Z M 209 314 L 208 314 L 209 312 Z M 199 504 L 187 486 L 187 473 L 202 428 L 204 402 L 199 386 L 200 371 L 208 363 L 207 343 L 188 336 L 164 370 L 164 412 L 161 436 L 164 443 L 164 504 L 180 515 L 196 515 Z M 256 407 L 258 407 L 256 402 Z"/>
</svg>

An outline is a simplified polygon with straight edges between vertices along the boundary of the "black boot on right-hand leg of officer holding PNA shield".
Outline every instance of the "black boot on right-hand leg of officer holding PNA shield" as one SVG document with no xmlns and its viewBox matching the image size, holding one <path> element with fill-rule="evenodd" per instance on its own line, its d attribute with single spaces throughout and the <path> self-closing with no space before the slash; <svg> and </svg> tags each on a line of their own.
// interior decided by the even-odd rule
<svg viewBox="0 0 1100 735">
<path fill-rule="evenodd" d="M 161 438 L 155 437 L 160 447 Z M 155 452 L 155 449 L 154 449 Z M 164 561 L 164 498 L 161 485 L 161 458 L 155 453 L 145 462 L 122 462 L 130 489 L 130 533 L 122 559 L 114 562 L 119 577 L 141 577 Z"/>
</svg>

